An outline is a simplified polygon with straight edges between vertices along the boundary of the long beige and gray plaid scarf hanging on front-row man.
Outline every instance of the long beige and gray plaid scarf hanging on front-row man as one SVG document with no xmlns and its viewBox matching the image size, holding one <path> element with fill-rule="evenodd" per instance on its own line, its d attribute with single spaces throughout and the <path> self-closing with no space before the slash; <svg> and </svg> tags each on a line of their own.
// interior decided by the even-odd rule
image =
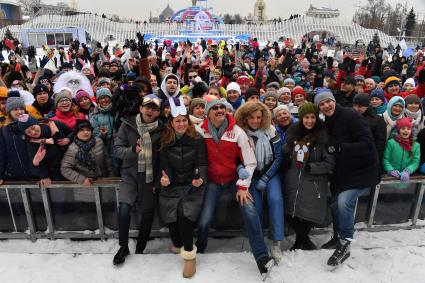
<svg viewBox="0 0 425 283">
<path fill-rule="evenodd" d="M 137 131 L 139 132 L 138 144 L 143 150 L 139 152 L 137 172 L 146 172 L 146 183 L 153 182 L 152 169 L 152 140 L 150 132 L 158 128 L 158 120 L 153 123 L 146 124 L 142 122 L 140 114 L 136 116 Z"/>
</svg>

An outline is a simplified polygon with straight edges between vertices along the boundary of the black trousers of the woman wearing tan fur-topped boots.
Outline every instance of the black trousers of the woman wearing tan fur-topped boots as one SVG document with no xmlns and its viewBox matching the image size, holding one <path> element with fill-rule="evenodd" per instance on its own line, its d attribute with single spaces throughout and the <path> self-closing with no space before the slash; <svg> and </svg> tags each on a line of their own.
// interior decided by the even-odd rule
<svg viewBox="0 0 425 283">
<path fill-rule="evenodd" d="M 177 207 L 177 221 L 168 224 L 170 229 L 170 237 L 174 246 L 181 248 L 184 246 L 185 251 L 193 250 L 193 230 L 195 223 L 187 219 L 183 215 L 183 206 L 180 202 Z"/>
</svg>

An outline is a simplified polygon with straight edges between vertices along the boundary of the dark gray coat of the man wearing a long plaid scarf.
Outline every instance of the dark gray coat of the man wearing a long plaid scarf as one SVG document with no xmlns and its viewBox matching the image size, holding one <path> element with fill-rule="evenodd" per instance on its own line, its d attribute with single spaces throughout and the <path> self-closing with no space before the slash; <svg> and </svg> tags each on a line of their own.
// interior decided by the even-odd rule
<svg viewBox="0 0 425 283">
<path fill-rule="evenodd" d="M 139 139 L 139 132 L 136 126 L 136 116 L 129 118 L 121 118 L 122 124 L 118 130 L 118 134 L 114 142 L 115 156 L 122 160 L 121 167 L 121 184 L 119 188 L 119 202 L 133 205 L 138 196 L 138 190 L 141 186 L 153 184 L 139 184 L 141 180 L 137 174 L 138 155 L 133 150 Z M 159 171 L 159 138 L 163 130 L 163 124 L 158 121 L 158 127 L 151 133 L 152 140 L 152 168 L 154 180 L 157 178 Z"/>
</svg>

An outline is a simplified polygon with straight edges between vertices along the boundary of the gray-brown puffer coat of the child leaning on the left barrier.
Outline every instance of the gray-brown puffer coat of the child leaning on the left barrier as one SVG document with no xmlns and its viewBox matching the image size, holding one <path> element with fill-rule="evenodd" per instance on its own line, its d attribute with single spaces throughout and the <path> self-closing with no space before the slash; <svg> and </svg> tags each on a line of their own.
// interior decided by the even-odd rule
<svg viewBox="0 0 425 283">
<path fill-rule="evenodd" d="M 96 169 L 94 171 L 82 166 L 76 158 L 78 146 L 72 143 L 65 152 L 61 162 L 62 175 L 73 183 L 82 184 L 86 178 L 100 178 L 112 176 L 111 159 L 103 141 L 96 138 L 95 146 L 90 150 L 96 160 Z"/>
</svg>

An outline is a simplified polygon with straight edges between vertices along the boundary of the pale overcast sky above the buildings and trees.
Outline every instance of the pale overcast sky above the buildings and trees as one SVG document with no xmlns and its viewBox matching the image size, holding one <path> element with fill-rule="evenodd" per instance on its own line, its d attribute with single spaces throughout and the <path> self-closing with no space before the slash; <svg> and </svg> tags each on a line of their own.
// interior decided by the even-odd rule
<svg viewBox="0 0 425 283">
<path fill-rule="evenodd" d="M 43 3 L 55 4 L 58 0 L 43 0 Z M 62 2 L 70 3 L 69 0 Z M 149 12 L 153 16 L 159 15 L 161 11 L 170 4 L 174 11 L 191 5 L 190 0 L 76 0 L 82 10 L 96 13 L 117 14 L 134 20 L 146 20 Z M 316 7 L 330 7 L 341 11 L 341 18 L 351 20 L 358 5 L 366 3 L 367 0 L 266 0 L 266 15 L 269 18 L 287 18 L 290 14 L 304 14 L 310 4 Z M 410 9 L 413 7 L 419 12 L 420 19 L 425 16 L 425 0 L 387 0 L 388 3 L 407 3 Z M 205 2 L 200 2 L 205 5 Z M 235 14 L 247 16 L 253 13 L 255 0 L 209 0 L 208 6 L 214 8 L 216 14 Z"/>
</svg>

